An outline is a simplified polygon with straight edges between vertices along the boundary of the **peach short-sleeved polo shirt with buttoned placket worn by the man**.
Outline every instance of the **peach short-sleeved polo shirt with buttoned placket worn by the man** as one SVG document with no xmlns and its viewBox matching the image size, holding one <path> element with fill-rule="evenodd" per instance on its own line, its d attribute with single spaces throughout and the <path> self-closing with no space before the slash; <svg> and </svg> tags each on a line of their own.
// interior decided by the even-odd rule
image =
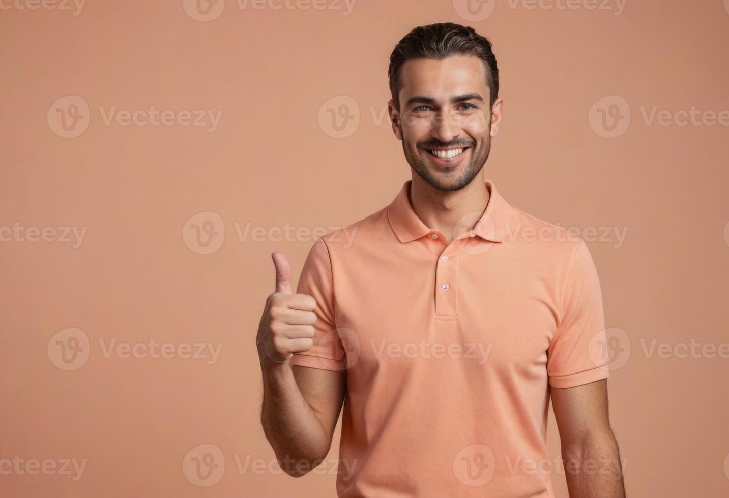
<svg viewBox="0 0 729 498">
<path fill-rule="evenodd" d="M 550 387 L 609 376 L 588 248 L 490 180 L 448 242 L 410 186 L 317 240 L 297 286 L 318 320 L 291 364 L 346 374 L 338 496 L 553 497 Z"/>
</svg>

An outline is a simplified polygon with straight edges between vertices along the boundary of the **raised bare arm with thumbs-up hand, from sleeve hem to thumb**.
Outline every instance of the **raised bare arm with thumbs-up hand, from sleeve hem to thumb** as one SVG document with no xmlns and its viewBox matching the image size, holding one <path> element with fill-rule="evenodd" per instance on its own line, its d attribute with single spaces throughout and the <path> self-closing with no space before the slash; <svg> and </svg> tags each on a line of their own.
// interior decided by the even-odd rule
<svg viewBox="0 0 729 498">
<path fill-rule="evenodd" d="M 321 464 L 332 443 L 345 390 L 345 374 L 293 366 L 292 353 L 313 347 L 316 306 L 312 296 L 293 294 L 291 269 L 274 253 L 276 292 L 258 328 L 263 379 L 261 423 L 279 465 L 294 477 Z"/>
</svg>

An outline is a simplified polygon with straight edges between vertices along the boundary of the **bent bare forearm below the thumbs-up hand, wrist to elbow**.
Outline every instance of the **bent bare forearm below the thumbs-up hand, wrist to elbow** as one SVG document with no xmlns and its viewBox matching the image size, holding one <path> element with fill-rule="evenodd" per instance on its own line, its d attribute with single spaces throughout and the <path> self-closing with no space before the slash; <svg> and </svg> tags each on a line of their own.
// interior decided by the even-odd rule
<svg viewBox="0 0 729 498">
<path fill-rule="evenodd" d="M 327 456 L 330 441 L 301 394 L 289 362 L 268 362 L 261 370 L 263 431 L 281 468 L 299 477 Z"/>
</svg>

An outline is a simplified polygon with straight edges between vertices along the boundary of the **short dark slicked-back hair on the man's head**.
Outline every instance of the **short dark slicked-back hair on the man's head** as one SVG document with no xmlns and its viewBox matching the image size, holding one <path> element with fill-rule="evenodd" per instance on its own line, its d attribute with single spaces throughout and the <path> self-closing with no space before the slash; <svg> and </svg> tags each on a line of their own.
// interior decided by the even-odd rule
<svg viewBox="0 0 729 498">
<path fill-rule="evenodd" d="M 491 90 L 491 106 L 499 95 L 499 68 L 491 42 L 469 26 L 454 23 L 436 23 L 418 26 L 397 42 L 390 55 L 390 92 L 395 108 L 399 110 L 399 92 L 402 87 L 400 68 L 408 59 L 442 60 L 451 55 L 475 55 L 486 65 L 486 82 Z"/>
</svg>

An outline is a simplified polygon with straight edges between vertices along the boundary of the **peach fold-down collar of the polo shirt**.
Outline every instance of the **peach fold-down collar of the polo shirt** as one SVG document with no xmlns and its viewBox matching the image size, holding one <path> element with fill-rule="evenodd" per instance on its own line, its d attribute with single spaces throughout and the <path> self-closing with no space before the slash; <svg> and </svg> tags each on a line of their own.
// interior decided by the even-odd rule
<svg viewBox="0 0 729 498">
<path fill-rule="evenodd" d="M 412 180 L 403 183 L 397 197 L 387 207 L 387 219 L 392 231 L 403 243 L 417 240 L 431 232 L 410 205 L 412 183 Z M 506 226 L 511 219 L 513 208 L 501 197 L 493 181 L 487 179 L 485 183 L 489 192 L 488 205 L 472 232 L 485 240 L 504 242 Z"/>
</svg>

